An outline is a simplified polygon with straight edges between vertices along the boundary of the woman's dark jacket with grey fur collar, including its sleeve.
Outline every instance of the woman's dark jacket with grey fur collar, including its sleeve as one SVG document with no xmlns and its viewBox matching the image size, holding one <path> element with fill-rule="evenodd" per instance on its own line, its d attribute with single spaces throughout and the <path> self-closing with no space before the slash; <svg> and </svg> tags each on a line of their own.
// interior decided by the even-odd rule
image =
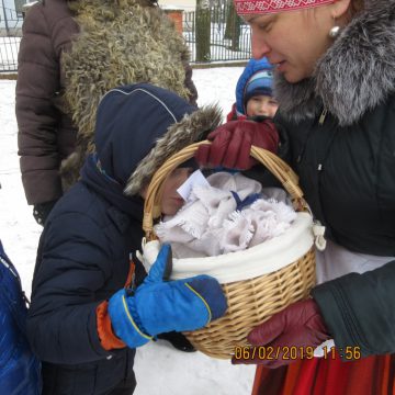
<svg viewBox="0 0 395 395">
<path fill-rule="evenodd" d="M 292 165 L 327 237 L 382 257 L 395 257 L 394 7 L 366 1 L 313 78 L 275 81 L 275 121 L 289 133 Z M 395 352 L 395 259 L 320 284 L 313 296 L 337 347 Z"/>
</svg>

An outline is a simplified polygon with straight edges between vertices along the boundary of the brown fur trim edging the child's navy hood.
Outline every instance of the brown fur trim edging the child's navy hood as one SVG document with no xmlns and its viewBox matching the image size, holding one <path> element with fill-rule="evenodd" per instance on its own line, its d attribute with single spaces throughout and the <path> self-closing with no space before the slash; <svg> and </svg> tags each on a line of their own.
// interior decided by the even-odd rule
<svg viewBox="0 0 395 395">
<path fill-rule="evenodd" d="M 156 146 L 139 162 L 127 181 L 125 194 L 137 194 L 149 183 L 154 173 L 168 158 L 192 143 L 204 139 L 208 132 L 221 124 L 221 121 L 219 106 L 208 105 L 185 115 L 180 122 L 171 125 L 166 135 L 157 140 Z"/>
</svg>

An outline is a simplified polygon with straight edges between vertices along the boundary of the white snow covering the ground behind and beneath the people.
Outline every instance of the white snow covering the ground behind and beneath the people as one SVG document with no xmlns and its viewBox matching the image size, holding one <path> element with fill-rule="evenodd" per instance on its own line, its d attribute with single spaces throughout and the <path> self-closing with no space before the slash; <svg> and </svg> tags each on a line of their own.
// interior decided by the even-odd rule
<svg viewBox="0 0 395 395">
<path fill-rule="evenodd" d="M 199 104 L 217 102 L 224 115 L 230 110 L 240 67 L 195 69 Z M 0 238 L 16 266 L 27 295 L 31 293 L 36 247 L 42 232 L 27 206 L 19 170 L 15 81 L 0 80 Z M 233 366 L 229 361 L 200 352 L 184 353 L 166 341 L 137 350 L 135 395 L 248 395 L 255 368 Z M 83 394 L 81 394 L 83 395 Z"/>
</svg>

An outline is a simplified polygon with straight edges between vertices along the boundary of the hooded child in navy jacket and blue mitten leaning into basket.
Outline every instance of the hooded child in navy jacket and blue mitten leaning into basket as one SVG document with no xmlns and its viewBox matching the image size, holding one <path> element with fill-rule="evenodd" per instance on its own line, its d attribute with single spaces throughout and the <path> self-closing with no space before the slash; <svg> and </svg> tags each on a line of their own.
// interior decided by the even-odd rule
<svg viewBox="0 0 395 395">
<path fill-rule="evenodd" d="M 153 174 L 219 120 L 218 110 L 198 110 L 147 83 L 113 89 L 101 100 L 95 153 L 52 211 L 38 246 L 27 332 L 42 360 L 43 394 L 129 395 L 136 347 L 158 334 L 202 328 L 225 313 L 215 279 L 163 281 L 169 246 L 145 279 L 129 259 L 140 248 Z M 165 214 L 182 204 L 171 191 L 188 172 L 170 176 Z"/>
</svg>

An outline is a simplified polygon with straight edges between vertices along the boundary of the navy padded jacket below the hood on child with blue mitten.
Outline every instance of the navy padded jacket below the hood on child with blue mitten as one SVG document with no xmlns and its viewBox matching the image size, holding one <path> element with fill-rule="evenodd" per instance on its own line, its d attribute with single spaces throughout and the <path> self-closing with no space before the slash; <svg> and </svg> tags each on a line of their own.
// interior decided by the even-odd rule
<svg viewBox="0 0 395 395">
<path fill-rule="evenodd" d="M 120 210 L 83 182 L 66 193 L 42 234 L 27 332 L 43 361 L 43 394 L 105 394 L 134 386 L 128 348 L 105 351 L 97 307 L 126 282 L 128 253 L 140 242 L 143 204 Z"/>
</svg>

